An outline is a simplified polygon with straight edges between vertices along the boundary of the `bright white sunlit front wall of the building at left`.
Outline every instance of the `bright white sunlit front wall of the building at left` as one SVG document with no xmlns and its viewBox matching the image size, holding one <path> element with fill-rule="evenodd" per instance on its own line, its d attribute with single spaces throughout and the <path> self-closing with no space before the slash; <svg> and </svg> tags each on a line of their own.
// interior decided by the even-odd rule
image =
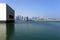
<svg viewBox="0 0 60 40">
<path fill-rule="evenodd" d="M 0 3 L 0 21 L 6 21 L 6 4 Z"/>
</svg>

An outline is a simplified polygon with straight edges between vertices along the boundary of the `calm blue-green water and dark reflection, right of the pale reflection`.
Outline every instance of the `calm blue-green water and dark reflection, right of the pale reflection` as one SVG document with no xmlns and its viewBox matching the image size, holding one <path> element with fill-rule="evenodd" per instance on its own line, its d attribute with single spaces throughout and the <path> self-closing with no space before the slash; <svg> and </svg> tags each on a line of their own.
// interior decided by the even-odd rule
<svg viewBox="0 0 60 40">
<path fill-rule="evenodd" d="M 60 40 L 60 22 L 7 23 L 6 28 L 7 40 Z"/>
</svg>

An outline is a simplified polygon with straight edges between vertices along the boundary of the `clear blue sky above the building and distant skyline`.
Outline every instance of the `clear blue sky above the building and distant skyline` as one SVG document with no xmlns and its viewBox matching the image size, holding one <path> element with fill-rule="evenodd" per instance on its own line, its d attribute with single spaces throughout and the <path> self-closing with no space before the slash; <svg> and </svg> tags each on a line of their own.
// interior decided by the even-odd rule
<svg viewBox="0 0 60 40">
<path fill-rule="evenodd" d="M 15 15 L 60 18 L 60 0 L 0 0 L 15 10 Z"/>
</svg>

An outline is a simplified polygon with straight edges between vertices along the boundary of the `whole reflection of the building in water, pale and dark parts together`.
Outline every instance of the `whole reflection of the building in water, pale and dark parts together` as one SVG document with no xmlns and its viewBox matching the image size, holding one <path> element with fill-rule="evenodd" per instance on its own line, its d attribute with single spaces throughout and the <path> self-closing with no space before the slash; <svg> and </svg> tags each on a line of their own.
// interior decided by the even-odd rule
<svg viewBox="0 0 60 40">
<path fill-rule="evenodd" d="M 0 40 L 9 40 L 14 33 L 14 23 L 0 23 Z"/>
</svg>

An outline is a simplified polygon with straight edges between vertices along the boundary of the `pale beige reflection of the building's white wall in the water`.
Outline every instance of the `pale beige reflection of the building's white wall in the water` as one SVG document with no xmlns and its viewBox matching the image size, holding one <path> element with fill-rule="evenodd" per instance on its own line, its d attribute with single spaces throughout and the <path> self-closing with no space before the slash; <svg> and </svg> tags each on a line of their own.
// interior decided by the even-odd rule
<svg viewBox="0 0 60 40">
<path fill-rule="evenodd" d="M 0 23 L 0 40 L 6 40 L 6 23 Z"/>
</svg>

